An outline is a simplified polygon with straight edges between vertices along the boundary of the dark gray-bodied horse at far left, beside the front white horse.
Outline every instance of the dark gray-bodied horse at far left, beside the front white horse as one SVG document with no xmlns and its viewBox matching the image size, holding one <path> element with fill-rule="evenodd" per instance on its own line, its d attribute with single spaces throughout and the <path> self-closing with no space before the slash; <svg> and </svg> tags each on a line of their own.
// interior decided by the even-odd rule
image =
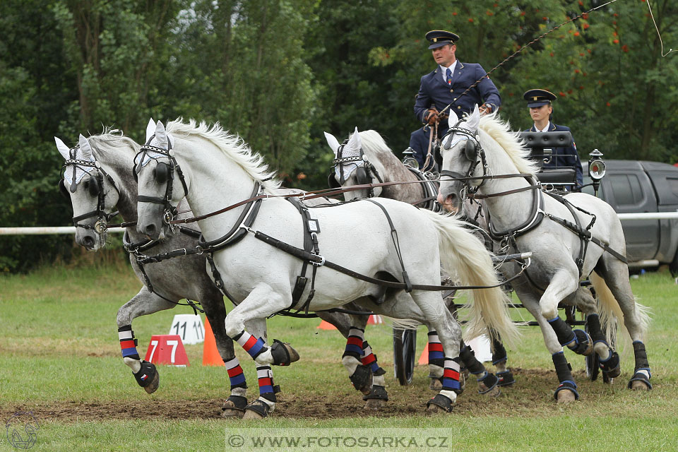
<svg viewBox="0 0 678 452">
<path fill-rule="evenodd" d="M 81 136 L 78 146 L 74 148 L 69 148 L 59 138 L 55 138 L 55 141 L 59 153 L 66 160 L 64 179 L 59 185 L 73 206 L 76 242 L 93 251 L 104 246 L 107 237 L 106 223 L 116 208 L 124 222 L 132 223 L 126 227 L 124 242 L 126 249 L 130 251 L 132 268 L 143 287 L 119 309 L 117 324 L 124 362 L 132 369 L 138 384 L 147 393 L 153 393 L 158 388 L 159 375 L 154 364 L 142 360 L 138 355 L 131 328 L 133 319 L 173 308 L 181 299 L 197 300 L 213 328 L 218 352 L 224 359 L 229 374 L 231 393 L 222 408 L 222 415 L 242 417 L 249 413 L 248 417 L 258 416 L 247 404 L 245 377 L 235 357 L 233 341 L 224 329 L 226 309 L 223 295 L 206 272 L 205 256 L 191 254 L 146 264 L 141 264 L 137 259 L 138 255 L 158 256 L 177 249 L 194 249 L 200 234 L 196 226 L 182 228 L 160 241 L 150 241 L 136 232 L 134 222 L 137 183 L 131 168 L 140 146 L 131 138 L 121 136 L 121 133 L 112 133 L 108 129 L 101 135 L 89 138 Z M 182 212 L 177 218 L 189 218 L 193 215 L 185 200 L 177 208 Z M 352 305 L 347 308 L 358 310 Z M 383 388 L 385 372 L 376 362 L 367 341 L 363 340 L 367 316 L 328 312 L 319 312 L 318 315 L 336 326 L 345 338 L 350 338 L 353 345 L 351 352 L 345 354 L 348 357 L 343 359 L 345 367 L 355 388 L 364 394 L 366 408 L 380 408 L 388 400 Z M 260 337 L 266 338 L 265 322 L 254 321 L 249 324 L 249 328 Z M 357 342 L 360 342 L 359 346 Z M 265 370 L 272 380 L 270 369 Z M 264 382 L 264 379 L 261 381 Z M 271 383 L 266 386 L 273 385 Z"/>
</svg>

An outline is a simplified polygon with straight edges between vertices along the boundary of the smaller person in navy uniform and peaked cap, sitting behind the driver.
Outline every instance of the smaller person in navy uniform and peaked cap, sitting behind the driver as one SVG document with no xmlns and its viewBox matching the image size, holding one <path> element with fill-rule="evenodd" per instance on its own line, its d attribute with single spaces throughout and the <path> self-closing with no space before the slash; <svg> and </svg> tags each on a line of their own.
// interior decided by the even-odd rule
<svg viewBox="0 0 678 452">
<path fill-rule="evenodd" d="M 529 90 L 523 94 L 523 99 L 528 101 L 530 117 L 535 124 L 526 132 L 571 132 L 569 127 L 557 126 L 551 122 L 553 106 L 551 102 L 556 100 L 556 95 L 547 90 Z M 577 153 L 577 147 L 572 138 L 572 144 L 567 148 L 555 148 L 553 157 L 549 162 L 544 163 L 544 167 L 574 167 L 576 170 L 577 184 L 583 185 L 581 160 Z"/>
</svg>

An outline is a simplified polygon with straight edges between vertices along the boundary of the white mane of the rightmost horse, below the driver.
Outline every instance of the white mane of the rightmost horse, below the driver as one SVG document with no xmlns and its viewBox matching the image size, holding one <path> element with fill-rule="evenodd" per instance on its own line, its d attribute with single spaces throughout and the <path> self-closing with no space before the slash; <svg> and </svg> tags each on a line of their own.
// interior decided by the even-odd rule
<svg viewBox="0 0 678 452">
<path fill-rule="evenodd" d="M 530 150 L 523 145 L 518 135 L 519 132 L 512 131 L 509 121 L 501 121 L 496 112 L 481 117 L 478 129 L 487 133 L 487 136 L 506 152 L 511 162 L 516 165 L 518 172 L 536 174 L 539 171 L 539 166 L 530 160 Z M 486 153 L 487 159 L 494 160 L 494 154 L 494 152 Z M 496 165 L 490 166 L 496 167 Z"/>
</svg>

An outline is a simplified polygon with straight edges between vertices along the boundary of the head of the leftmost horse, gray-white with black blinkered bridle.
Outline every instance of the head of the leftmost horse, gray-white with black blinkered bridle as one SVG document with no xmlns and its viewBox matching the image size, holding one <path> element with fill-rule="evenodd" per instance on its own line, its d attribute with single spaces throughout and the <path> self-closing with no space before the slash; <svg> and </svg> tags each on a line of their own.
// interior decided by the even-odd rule
<svg viewBox="0 0 678 452">
<path fill-rule="evenodd" d="M 69 148 L 56 136 L 57 150 L 64 157 L 64 177 L 59 191 L 71 201 L 76 243 L 97 251 L 106 244 L 107 222 L 119 199 L 113 180 L 93 155 L 87 138 L 81 135 L 78 146 Z"/>
</svg>

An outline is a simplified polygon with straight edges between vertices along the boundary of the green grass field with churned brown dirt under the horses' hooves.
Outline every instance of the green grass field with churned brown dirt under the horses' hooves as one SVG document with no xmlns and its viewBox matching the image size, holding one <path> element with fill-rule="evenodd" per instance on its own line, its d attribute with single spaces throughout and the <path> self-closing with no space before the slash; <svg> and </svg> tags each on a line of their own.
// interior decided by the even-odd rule
<svg viewBox="0 0 678 452">
<path fill-rule="evenodd" d="M 427 427 L 444 429 L 451 437 L 449 448 L 459 451 L 678 450 L 678 286 L 665 272 L 646 273 L 632 285 L 639 301 L 653 309 L 646 340 L 654 385 L 649 393 L 626 389 L 632 352 L 622 356 L 622 376 L 611 386 L 600 379 L 588 381 L 583 358 L 566 352 L 582 398 L 557 405 L 551 357 L 538 328 L 526 327 L 523 341 L 508 347 L 509 367 L 518 380 L 513 388 L 487 399 L 469 383 L 453 413 L 427 417 L 424 403 L 433 395 L 427 389 L 427 367 L 415 369 L 412 386 L 398 386 L 391 329 L 369 326 L 366 338 L 387 371 L 390 397 L 387 409 L 375 415 L 364 412 L 340 364 L 344 340 L 338 333 L 316 329 L 318 319 L 276 317 L 269 322 L 269 337 L 292 343 L 302 359 L 274 369 L 283 392 L 273 415 L 245 422 L 219 417 L 228 379 L 224 368 L 201 366 L 202 345 L 186 346 L 189 367 L 159 367 L 160 388 L 153 395 L 136 385 L 120 358 L 115 324 L 117 309 L 141 287 L 128 267 L 108 263 L 4 275 L 0 418 L 7 422 L 16 412 L 34 412 L 40 429 L 33 451 L 248 450 L 225 443 L 227 434 L 246 427 L 280 432 Z M 179 307 L 136 319 L 140 353 L 150 335 L 169 331 L 174 314 L 189 312 Z M 518 310 L 514 314 L 521 315 Z M 420 329 L 417 353 L 425 337 Z M 237 352 L 254 398 L 254 366 L 242 350 Z M 8 439 L 0 439 L 0 451 L 12 450 Z"/>
</svg>

